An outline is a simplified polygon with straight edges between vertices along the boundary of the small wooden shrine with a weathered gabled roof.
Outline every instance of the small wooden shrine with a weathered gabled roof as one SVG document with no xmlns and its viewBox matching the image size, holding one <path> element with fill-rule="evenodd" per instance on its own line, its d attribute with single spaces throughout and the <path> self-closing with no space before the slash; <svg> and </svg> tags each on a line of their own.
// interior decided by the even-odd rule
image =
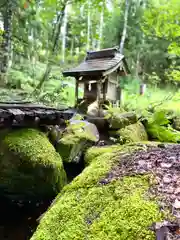
<svg viewBox="0 0 180 240">
<path fill-rule="evenodd" d="M 119 104 L 119 77 L 127 74 L 127 62 L 118 48 L 89 51 L 79 66 L 63 72 L 64 76 L 76 78 L 76 104 L 82 101 L 78 96 L 79 87 L 84 89 L 84 100 L 88 103 L 110 101 Z"/>
</svg>

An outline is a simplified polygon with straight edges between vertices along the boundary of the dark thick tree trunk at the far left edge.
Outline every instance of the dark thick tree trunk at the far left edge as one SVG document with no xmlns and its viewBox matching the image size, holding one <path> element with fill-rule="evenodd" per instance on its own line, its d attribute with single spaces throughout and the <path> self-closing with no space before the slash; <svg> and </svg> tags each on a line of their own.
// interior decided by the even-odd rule
<svg viewBox="0 0 180 240">
<path fill-rule="evenodd" d="M 11 60 L 11 38 L 12 38 L 12 0 L 7 0 L 5 11 L 3 14 L 4 34 L 1 46 L 1 62 L 0 62 L 0 74 L 1 74 L 1 85 L 6 84 L 7 73 L 10 66 Z"/>
</svg>

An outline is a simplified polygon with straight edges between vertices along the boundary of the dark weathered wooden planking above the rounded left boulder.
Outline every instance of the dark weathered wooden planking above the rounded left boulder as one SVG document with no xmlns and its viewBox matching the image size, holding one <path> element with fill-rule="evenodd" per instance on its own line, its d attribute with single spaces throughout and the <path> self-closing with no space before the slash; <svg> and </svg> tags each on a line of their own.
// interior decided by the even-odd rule
<svg viewBox="0 0 180 240">
<path fill-rule="evenodd" d="M 0 102 L 0 128 L 63 125 L 72 117 L 66 110 L 28 102 Z"/>
</svg>

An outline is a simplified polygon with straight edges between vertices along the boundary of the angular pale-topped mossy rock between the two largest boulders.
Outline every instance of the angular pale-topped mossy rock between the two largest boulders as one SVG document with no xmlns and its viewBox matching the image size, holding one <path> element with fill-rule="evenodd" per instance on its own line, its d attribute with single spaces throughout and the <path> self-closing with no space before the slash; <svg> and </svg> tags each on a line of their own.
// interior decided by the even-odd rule
<svg viewBox="0 0 180 240">
<path fill-rule="evenodd" d="M 56 146 L 57 151 L 66 163 L 79 162 L 82 153 L 99 140 L 96 126 L 87 121 L 70 122 Z"/>
</svg>

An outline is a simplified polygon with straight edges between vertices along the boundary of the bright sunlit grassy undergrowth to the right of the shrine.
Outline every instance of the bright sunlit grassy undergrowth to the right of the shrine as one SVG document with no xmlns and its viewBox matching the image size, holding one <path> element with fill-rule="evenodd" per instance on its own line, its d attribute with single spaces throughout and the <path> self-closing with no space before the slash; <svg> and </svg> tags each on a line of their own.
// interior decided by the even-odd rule
<svg viewBox="0 0 180 240">
<path fill-rule="evenodd" d="M 126 111 L 135 111 L 138 117 L 147 115 L 148 111 L 157 109 L 170 110 L 179 115 L 180 93 L 177 89 L 169 86 L 164 89 L 147 85 L 144 95 L 139 92 L 132 92 L 133 85 L 131 83 L 123 90 L 122 108 Z M 130 89 L 130 90 L 128 90 Z"/>
</svg>

